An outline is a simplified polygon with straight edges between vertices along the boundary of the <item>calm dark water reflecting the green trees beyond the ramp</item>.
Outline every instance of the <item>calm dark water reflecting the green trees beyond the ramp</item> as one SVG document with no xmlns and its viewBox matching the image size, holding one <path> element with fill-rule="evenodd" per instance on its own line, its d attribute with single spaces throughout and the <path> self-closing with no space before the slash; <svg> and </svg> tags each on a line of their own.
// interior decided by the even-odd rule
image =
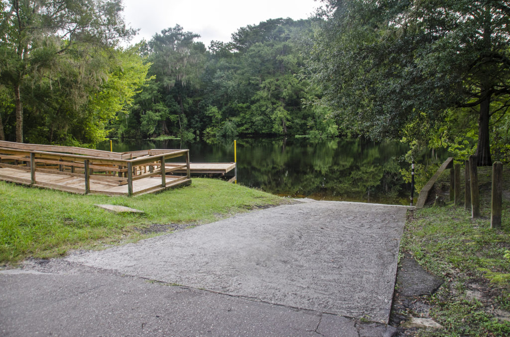
<svg viewBox="0 0 510 337">
<path fill-rule="evenodd" d="M 110 150 L 110 143 L 98 149 Z M 234 161 L 233 142 L 113 141 L 115 152 L 148 149 L 189 149 L 194 162 Z M 411 186 L 400 172 L 410 170 L 401 159 L 407 150 L 399 142 L 362 138 L 238 139 L 238 183 L 284 196 L 408 205 Z M 430 160 L 427 156 L 420 162 Z"/>
</svg>

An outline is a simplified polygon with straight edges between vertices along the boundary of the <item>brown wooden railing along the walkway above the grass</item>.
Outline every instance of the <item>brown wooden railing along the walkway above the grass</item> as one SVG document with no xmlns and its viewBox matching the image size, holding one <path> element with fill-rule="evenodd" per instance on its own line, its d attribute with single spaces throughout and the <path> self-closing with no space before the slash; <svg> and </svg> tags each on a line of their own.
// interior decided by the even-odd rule
<svg viewBox="0 0 510 337">
<path fill-rule="evenodd" d="M 168 167 L 165 161 L 184 157 L 185 164 Z M 95 193 L 108 195 L 136 195 L 189 181 L 189 150 L 143 150 L 134 152 L 108 152 L 77 147 L 38 144 L 20 144 L 0 141 L 0 168 L 7 167 L 25 173 L 30 179 L 0 173 L 0 179 L 21 184 L 64 190 L 74 193 Z M 171 175 L 173 171 L 186 170 L 186 176 Z M 50 183 L 37 179 L 37 173 L 83 178 L 85 188 Z M 170 175 L 168 175 L 170 173 Z M 161 177 L 161 184 L 133 190 L 133 182 L 149 177 Z M 91 189 L 91 181 L 120 186 L 127 185 L 127 193 L 108 189 Z"/>
</svg>

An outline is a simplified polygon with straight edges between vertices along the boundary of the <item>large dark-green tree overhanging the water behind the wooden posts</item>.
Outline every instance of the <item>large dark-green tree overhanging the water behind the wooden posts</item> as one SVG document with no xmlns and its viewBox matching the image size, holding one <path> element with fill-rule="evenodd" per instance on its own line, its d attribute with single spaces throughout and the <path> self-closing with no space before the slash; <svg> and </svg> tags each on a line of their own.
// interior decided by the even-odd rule
<svg viewBox="0 0 510 337">
<path fill-rule="evenodd" d="M 510 106 L 506 1 L 323 3 L 310 68 L 343 125 L 377 139 L 403 136 L 417 151 L 446 140 L 461 156 L 471 151 L 474 120 L 478 163 L 490 164 L 489 118 L 504 124 L 494 117 Z M 466 119 L 468 132 L 456 133 Z M 496 128 L 505 153 L 508 132 Z"/>
</svg>

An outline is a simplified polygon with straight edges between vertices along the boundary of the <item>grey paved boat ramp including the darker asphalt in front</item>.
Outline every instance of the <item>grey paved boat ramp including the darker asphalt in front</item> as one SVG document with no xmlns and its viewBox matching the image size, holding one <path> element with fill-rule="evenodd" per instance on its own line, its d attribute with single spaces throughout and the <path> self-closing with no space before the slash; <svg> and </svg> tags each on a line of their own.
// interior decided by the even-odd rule
<svg viewBox="0 0 510 337">
<path fill-rule="evenodd" d="M 306 202 L 33 261 L 0 272 L 0 334 L 391 336 L 406 211 Z"/>
</svg>

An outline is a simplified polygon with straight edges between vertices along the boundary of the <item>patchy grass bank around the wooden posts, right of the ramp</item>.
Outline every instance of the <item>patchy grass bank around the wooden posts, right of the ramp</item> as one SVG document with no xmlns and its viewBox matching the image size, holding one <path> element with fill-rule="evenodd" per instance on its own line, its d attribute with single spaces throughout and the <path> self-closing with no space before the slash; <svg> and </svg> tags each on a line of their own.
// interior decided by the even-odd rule
<svg viewBox="0 0 510 337">
<path fill-rule="evenodd" d="M 401 253 L 409 252 L 444 283 L 435 294 L 417 299 L 430 310 L 410 310 L 406 315 L 431 318 L 444 329 L 407 331 L 407 335 L 510 335 L 510 170 L 505 167 L 503 173 L 501 230 L 490 228 L 491 170 L 479 167 L 481 218 L 471 219 L 470 210 L 449 202 L 445 194 L 449 171 L 435 189 L 438 200 L 448 201 L 446 205 L 416 210 L 409 217 Z"/>
</svg>

